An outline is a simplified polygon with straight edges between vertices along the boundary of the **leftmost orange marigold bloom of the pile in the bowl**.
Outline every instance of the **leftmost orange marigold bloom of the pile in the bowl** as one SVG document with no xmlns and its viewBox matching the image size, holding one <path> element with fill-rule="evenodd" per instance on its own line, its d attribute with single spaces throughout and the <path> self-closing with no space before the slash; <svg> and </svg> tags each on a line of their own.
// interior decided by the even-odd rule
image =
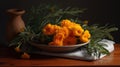
<svg viewBox="0 0 120 67">
<path fill-rule="evenodd" d="M 54 27 L 54 25 L 51 24 L 47 24 L 44 28 L 43 28 L 43 33 L 45 35 L 53 35 L 56 31 L 55 29 L 56 27 Z"/>
</svg>

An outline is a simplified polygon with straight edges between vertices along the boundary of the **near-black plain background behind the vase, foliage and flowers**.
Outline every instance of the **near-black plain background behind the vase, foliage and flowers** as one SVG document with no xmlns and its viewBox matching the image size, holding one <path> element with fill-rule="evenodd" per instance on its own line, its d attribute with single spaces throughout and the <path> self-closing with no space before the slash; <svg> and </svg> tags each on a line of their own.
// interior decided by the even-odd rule
<svg viewBox="0 0 120 67">
<path fill-rule="evenodd" d="M 110 24 L 120 28 L 120 2 L 119 0 L 0 0 L 0 43 L 5 44 L 5 28 L 8 21 L 6 10 L 9 8 L 26 9 L 42 3 L 61 5 L 62 7 L 87 8 L 81 19 L 90 24 Z M 120 30 L 112 33 L 115 42 L 120 43 Z"/>
</svg>

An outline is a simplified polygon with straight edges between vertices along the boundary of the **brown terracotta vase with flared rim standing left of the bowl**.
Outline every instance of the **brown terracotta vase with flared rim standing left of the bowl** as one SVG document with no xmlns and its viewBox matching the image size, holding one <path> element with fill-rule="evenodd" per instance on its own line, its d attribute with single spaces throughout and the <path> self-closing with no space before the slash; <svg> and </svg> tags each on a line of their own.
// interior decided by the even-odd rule
<svg viewBox="0 0 120 67">
<path fill-rule="evenodd" d="M 11 41 L 18 33 L 24 31 L 25 24 L 22 15 L 25 10 L 22 9 L 8 9 L 9 21 L 6 28 L 6 40 Z"/>
</svg>

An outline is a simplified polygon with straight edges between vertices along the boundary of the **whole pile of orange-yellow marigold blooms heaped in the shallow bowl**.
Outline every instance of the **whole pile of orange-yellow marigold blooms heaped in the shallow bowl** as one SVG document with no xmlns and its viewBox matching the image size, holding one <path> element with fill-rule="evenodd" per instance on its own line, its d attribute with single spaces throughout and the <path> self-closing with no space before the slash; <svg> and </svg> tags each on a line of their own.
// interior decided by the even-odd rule
<svg viewBox="0 0 120 67">
<path fill-rule="evenodd" d="M 70 20 L 62 20 L 60 25 L 47 24 L 43 28 L 44 35 L 53 35 L 52 42 L 49 45 L 64 46 L 75 45 L 88 42 L 91 34 L 88 30 L 84 30 L 80 24 Z"/>
</svg>

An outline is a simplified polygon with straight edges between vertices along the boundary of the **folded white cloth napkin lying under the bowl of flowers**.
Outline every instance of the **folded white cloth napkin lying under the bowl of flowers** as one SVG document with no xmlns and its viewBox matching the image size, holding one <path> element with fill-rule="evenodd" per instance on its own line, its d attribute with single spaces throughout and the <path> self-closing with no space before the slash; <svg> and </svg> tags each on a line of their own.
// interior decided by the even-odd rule
<svg viewBox="0 0 120 67">
<path fill-rule="evenodd" d="M 103 39 L 99 43 L 106 44 L 105 47 L 110 53 L 114 50 L 114 41 Z M 106 56 L 105 54 L 101 54 L 100 57 L 91 56 L 87 53 L 87 50 L 85 48 L 81 48 L 81 50 L 76 50 L 73 52 L 68 53 L 52 53 L 52 52 L 45 52 L 45 51 L 34 51 L 33 53 L 36 54 L 42 54 L 42 55 L 49 55 L 49 56 L 57 56 L 57 57 L 65 57 L 65 58 L 71 58 L 71 59 L 80 59 L 80 60 L 98 60 Z"/>
</svg>

